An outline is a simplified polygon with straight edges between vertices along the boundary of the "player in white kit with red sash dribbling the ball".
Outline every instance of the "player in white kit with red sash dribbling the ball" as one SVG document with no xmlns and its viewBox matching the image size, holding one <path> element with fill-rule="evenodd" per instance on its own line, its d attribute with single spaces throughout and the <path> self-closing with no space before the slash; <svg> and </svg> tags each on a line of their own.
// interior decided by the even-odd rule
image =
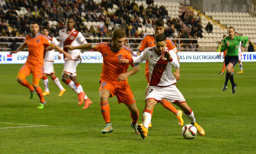
<svg viewBox="0 0 256 154">
<path fill-rule="evenodd" d="M 151 120 L 151 110 L 154 105 L 165 98 L 173 102 L 189 119 L 198 131 L 198 134 L 205 135 L 205 131 L 195 122 L 195 115 L 187 105 L 181 92 L 176 88 L 176 79 L 171 72 L 171 66 L 179 68 L 177 55 L 173 50 L 166 47 L 166 36 L 159 33 L 155 36 L 155 47 L 144 50 L 143 55 L 130 59 L 121 59 L 120 63 L 141 63 L 149 61 L 150 82 L 146 93 L 146 106 L 142 114 L 142 124 L 138 124 L 138 131 L 143 139 L 147 138 L 148 126 Z"/>
</svg>

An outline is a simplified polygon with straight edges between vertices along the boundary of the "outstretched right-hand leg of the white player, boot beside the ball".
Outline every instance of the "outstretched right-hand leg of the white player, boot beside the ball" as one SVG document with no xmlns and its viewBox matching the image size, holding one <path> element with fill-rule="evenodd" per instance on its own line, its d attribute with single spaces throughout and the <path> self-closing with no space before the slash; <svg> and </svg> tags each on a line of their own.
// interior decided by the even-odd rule
<svg viewBox="0 0 256 154">
<path fill-rule="evenodd" d="M 202 136 L 205 135 L 205 130 L 203 130 L 203 128 L 196 123 L 194 112 L 189 107 L 189 105 L 187 105 L 186 101 L 185 102 L 175 101 L 174 104 L 176 104 L 178 107 L 181 108 L 181 110 L 184 111 L 184 115 L 187 116 L 190 123 L 197 128 L 198 134 Z"/>
</svg>

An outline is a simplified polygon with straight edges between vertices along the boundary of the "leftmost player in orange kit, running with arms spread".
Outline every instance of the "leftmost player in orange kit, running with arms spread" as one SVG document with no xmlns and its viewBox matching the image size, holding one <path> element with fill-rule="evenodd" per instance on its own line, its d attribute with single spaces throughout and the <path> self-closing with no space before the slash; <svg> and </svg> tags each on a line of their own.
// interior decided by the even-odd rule
<svg viewBox="0 0 256 154">
<path fill-rule="evenodd" d="M 30 90 L 30 99 L 34 97 L 35 91 L 40 98 L 40 103 L 37 108 L 43 108 L 46 101 L 43 98 L 43 92 L 41 87 L 39 86 L 39 81 L 43 77 L 43 57 L 45 47 L 50 46 L 53 49 L 58 50 L 66 55 L 66 57 L 70 57 L 68 53 L 62 50 L 59 46 L 53 44 L 46 36 L 39 33 L 39 25 L 37 22 L 30 23 L 30 31 L 31 34 L 26 36 L 25 42 L 21 44 L 21 46 L 16 51 L 11 51 L 12 53 L 17 53 L 24 49 L 25 47 L 28 48 L 29 55 L 27 57 L 26 63 L 21 67 L 19 73 L 17 75 L 17 81 L 29 88 Z M 33 86 L 27 82 L 25 79 L 29 74 L 33 74 Z"/>
</svg>

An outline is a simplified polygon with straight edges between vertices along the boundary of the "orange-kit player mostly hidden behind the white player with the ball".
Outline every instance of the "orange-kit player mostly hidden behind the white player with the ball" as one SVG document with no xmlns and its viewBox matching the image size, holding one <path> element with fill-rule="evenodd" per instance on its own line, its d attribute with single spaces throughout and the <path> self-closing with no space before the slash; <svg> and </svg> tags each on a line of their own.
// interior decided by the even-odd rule
<svg viewBox="0 0 256 154">
<path fill-rule="evenodd" d="M 154 47 L 155 46 L 155 35 L 157 35 L 158 33 L 163 33 L 165 28 L 164 28 L 164 22 L 163 19 L 157 19 L 155 20 L 155 24 L 154 24 L 154 30 L 155 30 L 155 34 L 153 35 L 146 35 L 142 41 L 141 44 L 137 47 L 137 53 L 136 55 L 141 55 L 141 52 L 148 48 L 148 47 Z M 177 47 L 175 46 L 175 44 L 173 43 L 173 41 L 171 41 L 171 39 L 166 38 L 166 47 L 170 50 L 173 50 L 176 54 L 179 52 Z M 179 56 L 177 55 L 178 61 L 179 61 Z M 145 66 L 145 75 L 146 75 L 146 79 L 147 79 L 147 83 L 150 82 L 150 77 L 149 77 L 149 64 L 148 64 L 148 60 L 146 60 L 146 66 Z M 173 76 L 175 77 L 176 80 L 179 80 L 179 68 L 176 69 L 176 71 L 173 73 Z M 147 88 L 146 88 L 147 91 Z M 171 112 L 173 112 L 176 117 L 178 118 L 179 121 L 179 126 L 183 126 L 183 119 L 182 119 L 182 111 L 181 110 L 177 110 L 169 101 L 166 101 L 165 99 L 162 99 L 162 101 L 160 102 L 160 104 L 163 105 L 163 107 L 165 107 L 167 110 L 170 110 Z M 151 115 L 153 114 L 153 109 L 151 110 Z M 150 122 L 149 124 L 149 128 L 152 127 L 152 124 Z"/>
</svg>

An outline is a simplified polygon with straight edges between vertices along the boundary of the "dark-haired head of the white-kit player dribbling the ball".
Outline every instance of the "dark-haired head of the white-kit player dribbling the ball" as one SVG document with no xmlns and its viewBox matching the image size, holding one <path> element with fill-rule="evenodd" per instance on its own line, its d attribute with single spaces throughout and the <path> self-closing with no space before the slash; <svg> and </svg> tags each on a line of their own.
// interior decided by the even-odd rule
<svg viewBox="0 0 256 154">
<path fill-rule="evenodd" d="M 155 35 L 155 49 L 157 53 L 163 53 L 166 46 L 166 35 L 164 33 L 158 33 Z"/>
</svg>

